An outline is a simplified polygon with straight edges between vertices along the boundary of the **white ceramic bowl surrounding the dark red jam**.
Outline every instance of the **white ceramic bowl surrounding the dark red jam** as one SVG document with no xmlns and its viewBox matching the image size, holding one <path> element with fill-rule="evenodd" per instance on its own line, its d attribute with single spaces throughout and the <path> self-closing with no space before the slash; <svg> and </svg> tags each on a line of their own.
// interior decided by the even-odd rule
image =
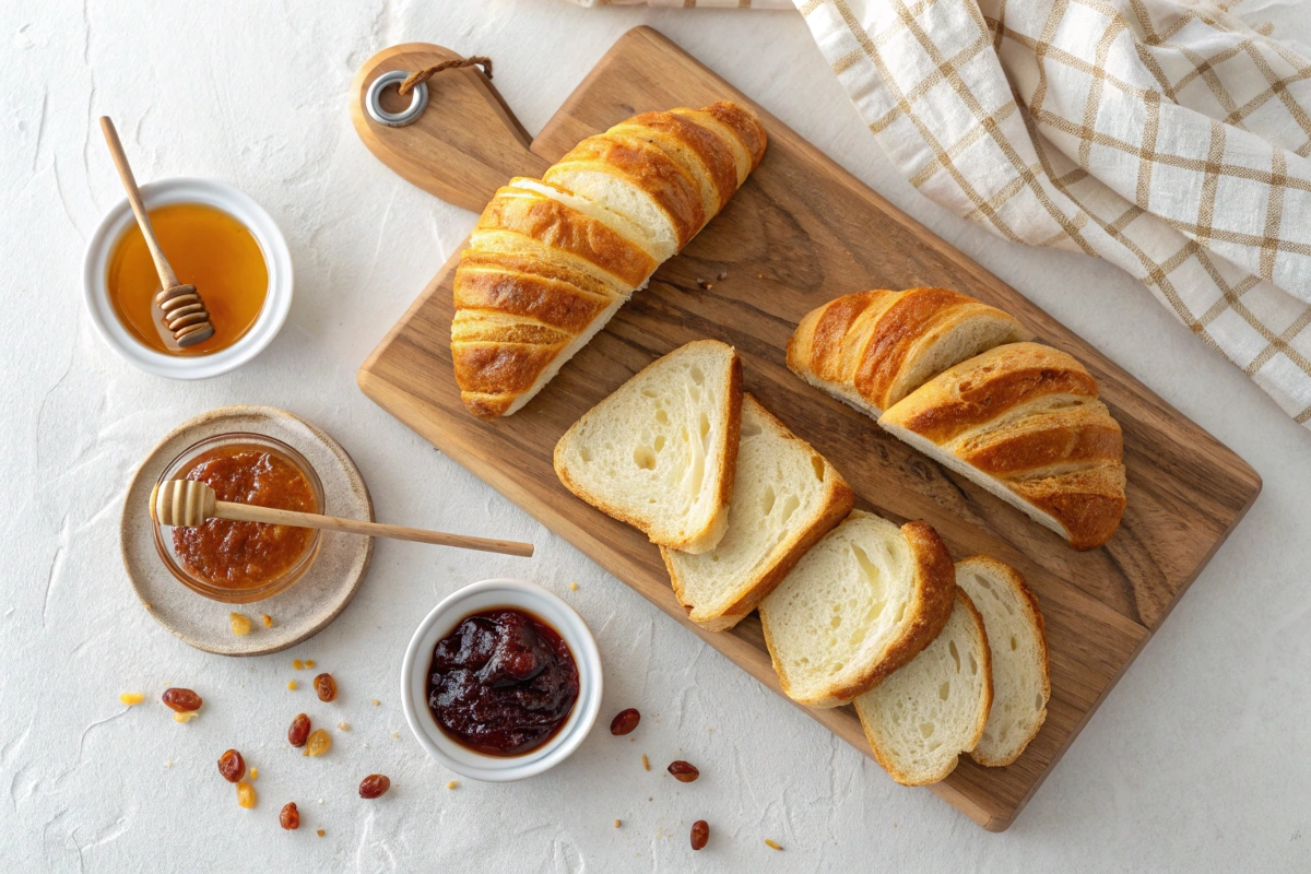
<svg viewBox="0 0 1311 874">
<path fill-rule="evenodd" d="M 569 645 L 578 666 L 578 700 L 569 719 L 551 740 L 522 756 L 485 756 L 467 750 L 438 727 L 427 709 L 427 670 L 437 642 L 471 613 L 494 607 L 517 607 L 545 620 Z M 401 702 L 410 731 L 434 759 L 455 773 L 488 782 L 532 777 L 568 759 L 597 722 L 600 692 L 600 653 L 582 617 L 543 587 L 518 579 L 485 579 L 448 595 L 420 622 L 401 666 Z"/>
</svg>

